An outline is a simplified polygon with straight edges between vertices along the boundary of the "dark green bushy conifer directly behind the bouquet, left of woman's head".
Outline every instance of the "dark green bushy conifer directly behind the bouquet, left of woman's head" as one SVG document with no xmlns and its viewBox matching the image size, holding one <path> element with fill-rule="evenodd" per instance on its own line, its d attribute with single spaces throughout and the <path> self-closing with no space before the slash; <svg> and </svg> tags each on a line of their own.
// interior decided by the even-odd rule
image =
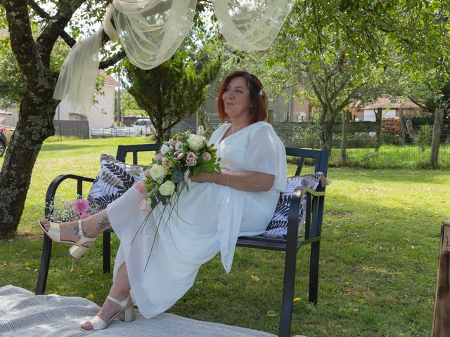
<svg viewBox="0 0 450 337">
<path fill-rule="evenodd" d="M 206 99 L 208 84 L 219 73 L 220 55 L 210 60 L 204 49 L 198 54 L 199 59 L 193 62 L 181 49 L 151 70 L 141 70 L 128 61 L 123 62 L 127 78 L 123 84 L 139 107 L 146 110 L 158 142 L 181 119 L 198 110 Z"/>
</svg>

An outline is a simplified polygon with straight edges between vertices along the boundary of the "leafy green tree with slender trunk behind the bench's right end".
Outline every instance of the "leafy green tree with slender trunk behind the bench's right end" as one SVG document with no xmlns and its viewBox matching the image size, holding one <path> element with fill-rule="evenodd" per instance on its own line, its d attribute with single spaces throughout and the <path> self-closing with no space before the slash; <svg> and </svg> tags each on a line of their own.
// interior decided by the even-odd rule
<svg viewBox="0 0 450 337">
<path fill-rule="evenodd" d="M 298 100 L 309 100 L 316 107 L 322 148 L 331 147 L 331 130 L 342 110 L 380 95 L 384 72 L 380 59 L 386 42 L 378 30 L 368 29 L 366 20 L 361 22 L 360 11 L 366 5 L 372 6 L 359 4 L 361 9 L 352 1 L 297 1 L 276 44 L 262 55 L 269 91 L 295 88 Z M 261 67 L 260 55 L 254 55 L 253 67 Z"/>
</svg>

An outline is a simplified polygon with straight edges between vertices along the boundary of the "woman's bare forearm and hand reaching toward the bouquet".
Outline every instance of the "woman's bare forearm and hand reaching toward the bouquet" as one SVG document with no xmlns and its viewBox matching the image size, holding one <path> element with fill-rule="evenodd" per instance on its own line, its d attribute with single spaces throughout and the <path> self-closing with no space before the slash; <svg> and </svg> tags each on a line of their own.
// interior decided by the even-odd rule
<svg viewBox="0 0 450 337">
<path fill-rule="evenodd" d="M 202 172 L 197 178 L 191 176 L 196 183 L 215 183 L 249 192 L 269 191 L 274 185 L 275 176 L 255 171 L 206 173 Z"/>
</svg>

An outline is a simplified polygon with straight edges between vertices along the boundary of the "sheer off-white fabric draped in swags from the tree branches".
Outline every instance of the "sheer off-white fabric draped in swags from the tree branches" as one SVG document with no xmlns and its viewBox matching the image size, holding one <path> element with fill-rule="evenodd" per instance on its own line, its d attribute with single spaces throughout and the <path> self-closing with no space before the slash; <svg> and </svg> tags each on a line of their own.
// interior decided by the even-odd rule
<svg viewBox="0 0 450 337">
<path fill-rule="evenodd" d="M 179 48 L 193 25 L 196 3 L 196 0 L 114 0 L 105 15 L 105 32 L 111 41 L 119 37 L 130 62 L 141 69 L 152 69 Z M 269 48 L 294 3 L 295 0 L 212 0 L 224 38 L 241 51 Z M 117 30 L 110 24 L 111 16 Z M 94 97 L 101 50 L 101 33 L 94 36 L 72 48 L 53 95 L 58 100 L 68 100 L 73 112 L 84 115 L 89 114 Z"/>
</svg>

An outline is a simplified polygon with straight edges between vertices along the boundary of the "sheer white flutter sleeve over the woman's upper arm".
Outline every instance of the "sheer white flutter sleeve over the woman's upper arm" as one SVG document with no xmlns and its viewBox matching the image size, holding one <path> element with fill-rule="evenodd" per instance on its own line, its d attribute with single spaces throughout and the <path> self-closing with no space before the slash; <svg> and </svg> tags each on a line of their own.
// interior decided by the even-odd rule
<svg viewBox="0 0 450 337">
<path fill-rule="evenodd" d="M 252 134 L 244 165 L 247 171 L 257 171 L 275 176 L 272 188 L 283 192 L 286 187 L 287 166 L 283 142 L 270 124 L 264 124 Z"/>
</svg>

